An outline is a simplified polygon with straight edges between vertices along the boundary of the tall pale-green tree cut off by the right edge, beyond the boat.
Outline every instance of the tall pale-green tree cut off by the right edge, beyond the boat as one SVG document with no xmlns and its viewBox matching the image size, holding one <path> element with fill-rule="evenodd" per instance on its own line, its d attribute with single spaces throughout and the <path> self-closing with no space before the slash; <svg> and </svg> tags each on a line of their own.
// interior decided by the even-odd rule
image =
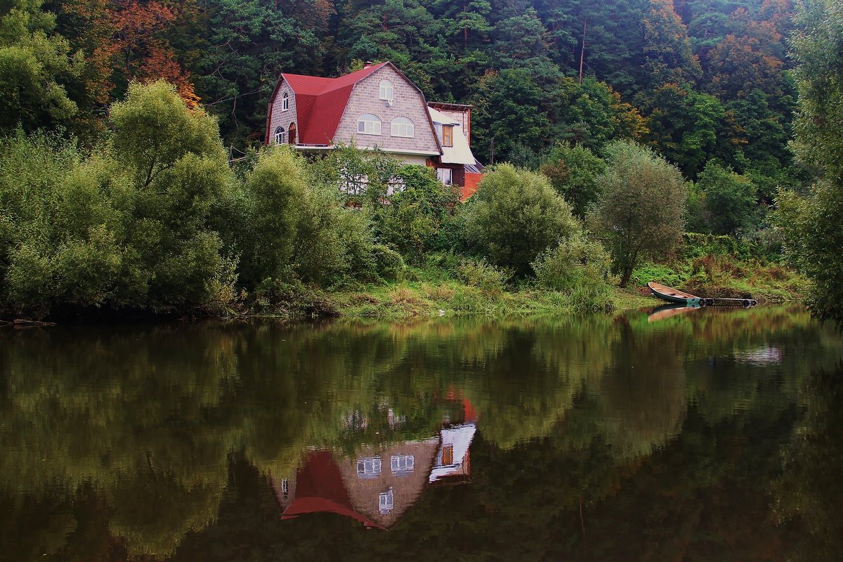
<svg viewBox="0 0 843 562">
<path fill-rule="evenodd" d="M 794 147 L 818 180 L 805 197 L 780 194 L 779 224 L 792 260 L 814 281 L 813 312 L 843 323 L 843 5 L 806 0 L 797 8 Z"/>
</svg>

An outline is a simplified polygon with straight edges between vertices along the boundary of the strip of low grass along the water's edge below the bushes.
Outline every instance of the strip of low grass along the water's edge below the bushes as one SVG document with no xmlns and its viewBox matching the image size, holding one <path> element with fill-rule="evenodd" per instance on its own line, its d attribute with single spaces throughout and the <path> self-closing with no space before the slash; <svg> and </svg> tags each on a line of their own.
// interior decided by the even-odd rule
<svg viewBox="0 0 843 562">
<path fill-rule="evenodd" d="M 333 292 L 295 293 L 260 315 L 409 318 L 547 313 L 614 313 L 663 304 L 647 281 L 662 281 L 705 297 L 753 297 L 760 304 L 797 302 L 808 283 L 792 270 L 757 261 L 706 256 L 674 265 L 638 268 L 627 289 L 610 286 L 550 291 L 533 284 L 484 286 L 438 268 L 408 268 L 400 281 L 368 283 Z"/>
</svg>

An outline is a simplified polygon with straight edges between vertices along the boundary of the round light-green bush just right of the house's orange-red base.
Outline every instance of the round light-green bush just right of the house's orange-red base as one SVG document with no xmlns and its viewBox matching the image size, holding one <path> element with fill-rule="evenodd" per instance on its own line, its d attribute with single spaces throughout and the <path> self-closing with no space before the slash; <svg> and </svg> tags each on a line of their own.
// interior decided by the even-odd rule
<svg viewBox="0 0 843 562">
<path fill-rule="evenodd" d="M 518 274 L 559 238 L 578 229 L 571 207 L 541 174 L 496 166 L 463 206 L 466 238 L 492 264 Z"/>
</svg>

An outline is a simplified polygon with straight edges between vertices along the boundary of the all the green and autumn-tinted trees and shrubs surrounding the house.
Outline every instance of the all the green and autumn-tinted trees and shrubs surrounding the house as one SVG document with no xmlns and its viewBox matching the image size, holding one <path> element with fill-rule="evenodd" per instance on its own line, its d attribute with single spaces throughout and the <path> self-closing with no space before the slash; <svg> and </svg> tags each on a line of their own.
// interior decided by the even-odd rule
<svg viewBox="0 0 843 562">
<path fill-rule="evenodd" d="M 570 291 L 594 265 L 609 285 L 658 276 L 781 300 L 808 286 L 787 264 L 835 317 L 822 303 L 840 291 L 827 250 L 840 211 L 819 199 L 843 189 L 829 95 L 843 89 L 841 37 L 830 0 L 13 0 L 0 8 L 3 308 L 231 308 L 279 277 L 302 281 L 296 294 L 406 278 L 399 260 L 476 286 Z M 394 62 L 427 99 L 472 104 L 475 155 L 489 163 L 494 139 L 513 167 L 467 204 L 416 174 L 405 204 L 373 190 L 354 216 L 331 181 L 352 162 L 389 184 L 399 171 L 383 158 L 340 151 L 331 170 L 259 148 L 280 72 L 367 60 Z M 278 181 L 291 169 L 298 185 Z M 659 191 L 675 212 L 623 216 Z M 544 231 L 482 242 L 516 207 L 550 217 Z M 623 246 L 611 233 L 624 221 L 658 232 Z M 323 249 L 319 232 L 333 269 L 300 244 Z M 260 233 L 277 238 L 266 253 Z"/>
</svg>

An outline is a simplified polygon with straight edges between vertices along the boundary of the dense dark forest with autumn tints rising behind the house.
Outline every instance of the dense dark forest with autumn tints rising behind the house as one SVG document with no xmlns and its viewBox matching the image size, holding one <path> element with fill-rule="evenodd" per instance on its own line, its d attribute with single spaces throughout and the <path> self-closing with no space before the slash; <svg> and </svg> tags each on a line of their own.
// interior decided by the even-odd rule
<svg viewBox="0 0 843 562">
<path fill-rule="evenodd" d="M 790 160 L 790 0 L 16 0 L 6 12 L 4 28 L 31 35 L 13 41 L 30 75 L 4 94 L 39 75 L 49 86 L 4 126 L 89 135 L 129 81 L 164 78 L 242 150 L 264 134 L 280 72 L 390 60 L 428 99 L 475 104 L 481 160 L 491 136 L 517 163 L 559 140 L 636 139 L 691 178 L 710 158 L 767 175 Z"/>
</svg>

